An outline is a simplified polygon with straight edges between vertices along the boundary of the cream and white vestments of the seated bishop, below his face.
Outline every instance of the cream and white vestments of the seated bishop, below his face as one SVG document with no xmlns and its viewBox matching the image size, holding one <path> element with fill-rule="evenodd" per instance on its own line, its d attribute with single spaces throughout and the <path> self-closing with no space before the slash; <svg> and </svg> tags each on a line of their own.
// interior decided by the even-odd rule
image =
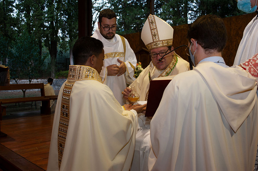
<svg viewBox="0 0 258 171">
<path fill-rule="evenodd" d="M 173 60 L 171 61 L 170 65 L 164 71 L 159 71 L 151 62 L 148 67 L 146 67 L 137 77 L 137 79 L 130 85 L 135 86 L 136 92 L 140 95 L 139 101 L 147 100 L 146 96 L 148 96 L 148 90 L 150 87 L 150 80 L 149 80 L 149 72 L 151 80 L 158 78 L 158 77 L 165 77 L 171 69 L 174 69 L 167 75 L 177 75 L 179 73 L 189 71 L 189 63 L 179 57 L 178 55 L 174 55 L 177 58 L 177 63 L 174 67 Z M 131 170 L 132 171 L 146 171 L 147 163 L 148 163 L 148 156 L 151 149 L 150 144 L 150 118 L 144 117 L 144 114 L 138 117 L 138 132 L 136 134 L 136 142 L 135 142 L 135 149 L 134 149 L 134 157 L 132 161 Z"/>
</svg>

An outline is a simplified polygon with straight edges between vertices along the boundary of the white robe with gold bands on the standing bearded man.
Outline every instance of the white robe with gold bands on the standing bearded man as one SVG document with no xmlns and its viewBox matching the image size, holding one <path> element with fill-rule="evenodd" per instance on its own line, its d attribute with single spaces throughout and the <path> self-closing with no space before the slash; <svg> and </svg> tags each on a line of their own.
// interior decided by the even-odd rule
<svg viewBox="0 0 258 171">
<path fill-rule="evenodd" d="M 99 39 L 104 45 L 105 59 L 100 73 L 103 84 L 107 85 L 112 90 L 121 105 L 126 104 L 121 92 L 126 88 L 126 83 L 130 85 L 135 80 L 134 70 L 137 61 L 134 51 L 131 49 L 128 41 L 125 38 L 122 40 L 118 34 L 115 34 L 114 38 L 108 41 L 100 34 L 99 29 L 96 29 L 92 37 Z M 117 75 L 107 76 L 107 66 L 113 64 L 120 66 L 117 59 L 124 61 L 126 72 L 119 77 L 117 77 Z"/>
</svg>

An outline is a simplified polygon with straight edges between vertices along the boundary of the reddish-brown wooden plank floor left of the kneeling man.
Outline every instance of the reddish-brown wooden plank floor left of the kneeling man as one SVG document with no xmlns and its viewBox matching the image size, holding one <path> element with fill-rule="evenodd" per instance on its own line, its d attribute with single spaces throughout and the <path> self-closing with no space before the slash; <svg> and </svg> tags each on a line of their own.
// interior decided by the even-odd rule
<svg viewBox="0 0 258 171">
<path fill-rule="evenodd" d="M 0 144 L 46 170 L 54 114 L 3 117 Z"/>
</svg>

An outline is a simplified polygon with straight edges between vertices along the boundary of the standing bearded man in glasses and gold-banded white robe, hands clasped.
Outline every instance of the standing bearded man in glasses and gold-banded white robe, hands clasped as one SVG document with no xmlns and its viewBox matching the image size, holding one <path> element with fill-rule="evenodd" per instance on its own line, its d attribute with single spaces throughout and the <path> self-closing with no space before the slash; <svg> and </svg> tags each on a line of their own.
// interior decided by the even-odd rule
<svg viewBox="0 0 258 171">
<path fill-rule="evenodd" d="M 105 59 L 100 76 L 103 83 L 113 92 L 118 102 L 126 103 L 121 92 L 134 80 L 136 57 L 128 41 L 116 34 L 116 14 L 111 9 L 103 9 L 99 13 L 98 28 L 92 37 L 99 39 L 104 45 Z"/>
</svg>

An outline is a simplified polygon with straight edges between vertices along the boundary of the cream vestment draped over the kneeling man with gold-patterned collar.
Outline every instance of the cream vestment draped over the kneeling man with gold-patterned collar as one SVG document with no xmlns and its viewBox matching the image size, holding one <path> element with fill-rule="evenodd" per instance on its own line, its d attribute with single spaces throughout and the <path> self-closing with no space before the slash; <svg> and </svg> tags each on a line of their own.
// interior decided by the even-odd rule
<svg viewBox="0 0 258 171">
<path fill-rule="evenodd" d="M 67 109 L 62 107 L 60 111 L 66 83 L 57 99 L 48 171 L 59 170 L 58 129 L 60 112 Z M 134 153 L 137 112 L 122 109 L 110 88 L 91 78 L 75 81 L 69 99 L 70 119 L 60 170 L 128 171 Z"/>
</svg>

